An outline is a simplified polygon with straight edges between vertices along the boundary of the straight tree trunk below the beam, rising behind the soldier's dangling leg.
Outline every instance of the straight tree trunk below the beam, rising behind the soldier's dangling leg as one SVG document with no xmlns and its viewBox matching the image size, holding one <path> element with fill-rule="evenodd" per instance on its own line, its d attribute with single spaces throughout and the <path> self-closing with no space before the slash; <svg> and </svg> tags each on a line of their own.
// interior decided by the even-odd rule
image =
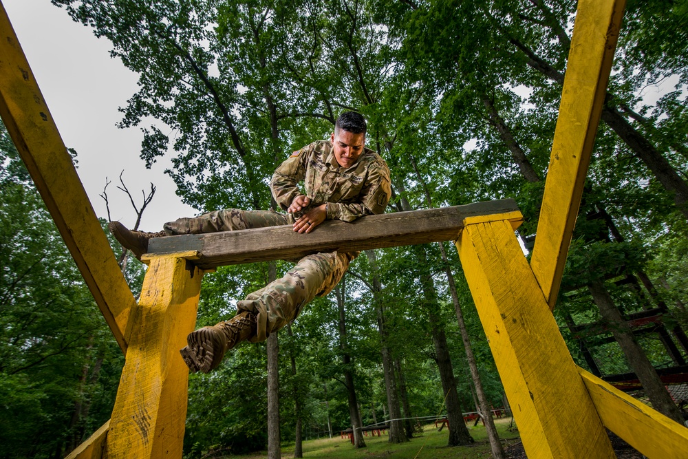
<svg viewBox="0 0 688 459">
<path fill-rule="evenodd" d="M 277 279 L 277 265 L 270 261 L 268 283 Z M 277 332 L 270 333 L 268 352 L 268 459 L 281 458 L 279 440 L 279 343 Z"/>
</svg>

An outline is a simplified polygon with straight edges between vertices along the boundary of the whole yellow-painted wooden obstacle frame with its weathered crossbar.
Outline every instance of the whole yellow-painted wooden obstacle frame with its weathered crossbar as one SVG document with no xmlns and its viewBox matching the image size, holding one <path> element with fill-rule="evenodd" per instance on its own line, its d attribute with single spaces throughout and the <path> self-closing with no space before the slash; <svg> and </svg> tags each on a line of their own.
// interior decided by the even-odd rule
<svg viewBox="0 0 688 459">
<path fill-rule="evenodd" d="M 648 458 L 688 458 L 688 429 L 577 367 L 551 312 L 624 6 L 579 0 L 530 264 L 514 234 L 522 216 L 507 200 L 327 222 L 310 235 L 275 227 L 162 238 L 145 257 L 137 303 L 0 3 L 0 115 L 126 354 L 111 419 L 69 457 L 181 458 L 188 370 L 179 349 L 195 327 L 206 270 L 455 240 L 529 458 L 613 458 L 605 427 Z"/>
</svg>

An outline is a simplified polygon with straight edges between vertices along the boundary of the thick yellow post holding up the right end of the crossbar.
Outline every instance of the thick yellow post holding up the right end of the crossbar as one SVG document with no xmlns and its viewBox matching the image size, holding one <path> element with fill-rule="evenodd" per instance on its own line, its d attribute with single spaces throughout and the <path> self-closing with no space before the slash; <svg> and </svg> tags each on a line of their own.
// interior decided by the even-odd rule
<svg viewBox="0 0 688 459">
<path fill-rule="evenodd" d="M 456 246 L 528 458 L 614 458 L 512 224 L 466 224 Z"/>
</svg>

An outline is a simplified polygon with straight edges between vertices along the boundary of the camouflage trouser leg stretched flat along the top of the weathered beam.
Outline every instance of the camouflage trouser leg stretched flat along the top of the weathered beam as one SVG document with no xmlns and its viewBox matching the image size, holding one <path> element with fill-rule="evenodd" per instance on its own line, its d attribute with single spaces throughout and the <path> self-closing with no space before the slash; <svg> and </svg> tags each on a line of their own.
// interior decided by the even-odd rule
<svg viewBox="0 0 688 459">
<path fill-rule="evenodd" d="M 237 231 L 250 228 L 264 228 L 266 226 L 280 226 L 293 224 L 294 218 L 290 214 L 272 211 L 242 211 L 241 209 L 226 209 L 204 213 L 198 217 L 178 218 L 174 222 L 164 224 L 167 235 L 217 233 L 219 231 Z"/>
</svg>

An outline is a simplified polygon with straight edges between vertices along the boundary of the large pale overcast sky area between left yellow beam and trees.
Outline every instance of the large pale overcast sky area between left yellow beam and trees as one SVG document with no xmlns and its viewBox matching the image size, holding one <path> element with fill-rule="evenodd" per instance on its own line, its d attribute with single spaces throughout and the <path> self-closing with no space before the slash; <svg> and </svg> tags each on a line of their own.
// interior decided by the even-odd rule
<svg viewBox="0 0 688 459">
<path fill-rule="evenodd" d="M 78 174 L 98 217 L 107 218 L 103 192 L 108 187 L 113 220 L 125 225 L 136 221 L 129 198 L 115 188 L 119 174 L 137 204 L 143 189 L 157 186 L 155 198 L 144 212 L 140 228 L 159 231 L 164 222 L 189 217 L 197 211 L 182 204 L 176 186 L 163 171 L 167 162 L 151 170 L 139 158 L 143 137 L 138 127 L 118 129 L 118 107 L 125 106 L 137 89 L 136 74 L 118 59 L 110 58 L 107 39 L 97 39 L 89 28 L 72 21 L 49 0 L 2 0 L 14 32 L 29 61 L 43 97 L 65 145 L 78 153 Z"/>
</svg>

